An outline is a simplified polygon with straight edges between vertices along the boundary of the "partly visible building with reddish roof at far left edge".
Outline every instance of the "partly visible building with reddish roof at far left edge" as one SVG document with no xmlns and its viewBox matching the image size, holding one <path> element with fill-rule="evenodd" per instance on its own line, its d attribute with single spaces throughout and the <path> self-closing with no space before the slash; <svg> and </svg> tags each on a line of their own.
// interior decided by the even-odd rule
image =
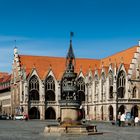
<svg viewBox="0 0 140 140">
<path fill-rule="evenodd" d="M 11 114 L 11 75 L 0 72 L 0 114 Z"/>
</svg>

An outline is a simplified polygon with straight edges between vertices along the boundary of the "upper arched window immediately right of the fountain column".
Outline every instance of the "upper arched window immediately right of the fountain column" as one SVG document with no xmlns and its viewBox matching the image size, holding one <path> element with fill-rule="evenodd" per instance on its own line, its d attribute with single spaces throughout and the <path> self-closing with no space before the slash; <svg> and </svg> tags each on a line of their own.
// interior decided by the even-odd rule
<svg viewBox="0 0 140 140">
<path fill-rule="evenodd" d="M 80 101 L 85 101 L 85 82 L 82 77 L 77 80 L 78 98 Z"/>
</svg>

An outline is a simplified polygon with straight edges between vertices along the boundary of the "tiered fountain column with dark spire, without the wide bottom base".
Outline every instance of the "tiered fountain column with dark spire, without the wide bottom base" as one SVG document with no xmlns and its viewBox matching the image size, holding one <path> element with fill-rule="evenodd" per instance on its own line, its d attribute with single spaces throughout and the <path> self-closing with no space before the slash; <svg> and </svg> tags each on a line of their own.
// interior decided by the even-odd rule
<svg viewBox="0 0 140 140">
<path fill-rule="evenodd" d="M 61 80 L 61 100 L 59 101 L 61 121 L 66 119 L 78 120 L 80 102 L 77 95 L 77 73 L 74 72 L 74 67 L 75 56 L 72 48 L 72 39 L 70 39 L 70 47 L 66 56 L 66 70 Z"/>
</svg>

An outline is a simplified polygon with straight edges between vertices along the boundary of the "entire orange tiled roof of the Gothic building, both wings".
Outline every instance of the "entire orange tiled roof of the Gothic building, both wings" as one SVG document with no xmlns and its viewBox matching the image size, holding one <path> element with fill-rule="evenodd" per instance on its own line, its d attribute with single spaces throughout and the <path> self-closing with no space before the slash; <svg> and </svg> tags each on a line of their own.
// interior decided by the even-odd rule
<svg viewBox="0 0 140 140">
<path fill-rule="evenodd" d="M 89 68 L 94 70 L 101 69 L 102 65 L 105 67 L 107 72 L 107 67 L 110 63 L 116 63 L 117 67 L 122 62 L 128 71 L 129 65 L 134 57 L 134 53 L 137 52 L 137 47 L 134 46 L 118 52 L 114 55 L 108 56 L 103 59 L 87 59 L 87 58 L 76 58 L 75 71 L 79 73 L 82 70 L 85 75 Z M 51 68 L 56 79 L 60 80 L 66 67 L 66 58 L 64 57 L 50 57 L 50 56 L 31 56 L 31 55 L 19 55 L 20 65 L 26 68 L 27 75 L 35 68 L 41 79 L 44 79 L 47 72 Z"/>
</svg>

